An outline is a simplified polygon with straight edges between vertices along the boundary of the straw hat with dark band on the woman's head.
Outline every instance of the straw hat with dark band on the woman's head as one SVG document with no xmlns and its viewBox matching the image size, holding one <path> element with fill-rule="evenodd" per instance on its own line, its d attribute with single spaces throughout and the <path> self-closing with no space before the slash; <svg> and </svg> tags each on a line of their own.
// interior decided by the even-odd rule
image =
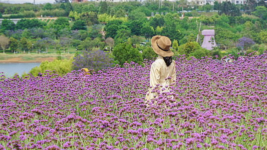
<svg viewBox="0 0 267 150">
<path fill-rule="evenodd" d="M 166 36 L 155 35 L 151 38 L 153 50 L 164 57 L 172 56 L 174 53 L 170 50 L 171 40 Z"/>
</svg>

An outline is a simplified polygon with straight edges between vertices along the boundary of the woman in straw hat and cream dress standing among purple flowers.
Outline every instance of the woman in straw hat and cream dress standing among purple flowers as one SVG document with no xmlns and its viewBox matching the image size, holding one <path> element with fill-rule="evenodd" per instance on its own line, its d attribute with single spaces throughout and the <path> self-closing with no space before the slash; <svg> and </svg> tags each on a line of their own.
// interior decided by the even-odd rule
<svg viewBox="0 0 267 150">
<path fill-rule="evenodd" d="M 175 62 L 172 61 L 173 52 L 170 50 L 171 40 L 166 36 L 155 35 L 151 38 L 151 46 L 158 57 L 151 64 L 147 102 L 151 102 L 151 99 L 157 96 L 157 89 L 161 92 L 166 88 L 163 91 L 168 91 L 167 86 L 174 83 L 176 79 Z"/>
</svg>

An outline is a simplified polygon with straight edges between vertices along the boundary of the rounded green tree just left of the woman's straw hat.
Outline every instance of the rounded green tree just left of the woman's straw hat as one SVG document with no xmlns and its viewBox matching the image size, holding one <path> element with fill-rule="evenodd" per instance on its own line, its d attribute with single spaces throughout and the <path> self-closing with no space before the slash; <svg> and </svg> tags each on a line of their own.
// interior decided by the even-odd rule
<svg viewBox="0 0 267 150">
<path fill-rule="evenodd" d="M 130 63 L 133 61 L 141 64 L 143 61 L 141 53 L 127 42 L 116 45 L 113 50 L 113 55 L 121 66 L 123 66 L 125 62 Z"/>
</svg>

